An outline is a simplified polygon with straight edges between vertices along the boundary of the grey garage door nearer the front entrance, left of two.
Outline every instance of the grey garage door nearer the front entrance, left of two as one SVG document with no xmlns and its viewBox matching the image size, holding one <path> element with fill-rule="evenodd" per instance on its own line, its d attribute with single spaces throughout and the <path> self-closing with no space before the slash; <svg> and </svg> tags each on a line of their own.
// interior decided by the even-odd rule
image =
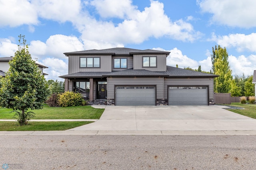
<svg viewBox="0 0 256 170">
<path fill-rule="evenodd" d="M 155 86 L 117 86 L 115 105 L 149 106 L 156 105 Z"/>
</svg>

